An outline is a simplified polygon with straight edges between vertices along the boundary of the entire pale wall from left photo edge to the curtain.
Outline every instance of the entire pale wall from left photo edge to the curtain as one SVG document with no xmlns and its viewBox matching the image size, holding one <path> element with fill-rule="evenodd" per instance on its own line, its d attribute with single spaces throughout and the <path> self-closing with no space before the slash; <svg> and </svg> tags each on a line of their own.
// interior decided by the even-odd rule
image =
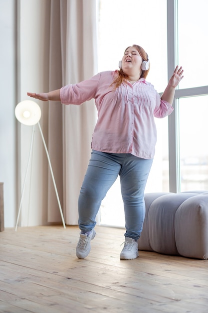
<svg viewBox="0 0 208 313">
<path fill-rule="evenodd" d="M 19 101 L 28 99 L 27 91 L 41 91 L 45 83 L 42 73 L 45 24 L 41 15 L 45 14 L 46 4 L 42 0 L 0 0 L 0 182 L 4 183 L 5 227 L 14 227 L 16 223 L 32 133 L 32 126 L 16 120 L 14 109 Z M 42 108 L 41 123 L 47 134 L 45 119 Z M 47 223 L 46 213 L 42 213 L 47 203 L 42 202 L 37 192 L 39 189 L 47 192 L 43 177 L 47 176 L 47 158 L 37 126 L 33 150 L 21 226 Z M 46 175 L 42 175 L 43 170 Z"/>
</svg>

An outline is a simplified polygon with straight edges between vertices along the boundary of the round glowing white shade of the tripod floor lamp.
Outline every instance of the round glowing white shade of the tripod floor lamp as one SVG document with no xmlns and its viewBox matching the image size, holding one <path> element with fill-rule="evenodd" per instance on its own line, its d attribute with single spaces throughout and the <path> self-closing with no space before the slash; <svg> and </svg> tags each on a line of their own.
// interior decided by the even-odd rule
<svg viewBox="0 0 208 313">
<path fill-rule="evenodd" d="M 35 125 L 41 117 L 39 105 L 31 100 L 19 102 L 14 112 L 18 121 L 24 125 Z"/>
</svg>

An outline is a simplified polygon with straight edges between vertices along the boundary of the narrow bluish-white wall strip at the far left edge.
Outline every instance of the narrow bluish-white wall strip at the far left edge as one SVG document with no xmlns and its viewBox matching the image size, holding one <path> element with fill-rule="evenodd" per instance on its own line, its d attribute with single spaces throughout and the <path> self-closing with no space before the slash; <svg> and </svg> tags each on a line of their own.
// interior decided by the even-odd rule
<svg viewBox="0 0 208 313">
<path fill-rule="evenodd" d="M 15 40 L 13 0 L 0 0 L 0 181 L 4 183 L 4 226 L 16 209 Z"/>
</svg>

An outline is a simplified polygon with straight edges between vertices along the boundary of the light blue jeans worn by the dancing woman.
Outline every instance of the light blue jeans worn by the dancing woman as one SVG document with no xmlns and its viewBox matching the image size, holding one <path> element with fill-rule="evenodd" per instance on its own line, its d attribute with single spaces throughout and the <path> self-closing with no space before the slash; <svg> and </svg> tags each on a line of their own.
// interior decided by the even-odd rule
<svg viewBox="0 0 208 313">
<path fill-rule="evenodd" d="M 78 200 L 79 228 L 90 231 L 102 199 L 118 175 L 125 212 L 125 236 L 140 237 L 144 217 L 144 190 L 153 159 L 144 159 L 130 153 L 92 151 Z"/>
</svg>

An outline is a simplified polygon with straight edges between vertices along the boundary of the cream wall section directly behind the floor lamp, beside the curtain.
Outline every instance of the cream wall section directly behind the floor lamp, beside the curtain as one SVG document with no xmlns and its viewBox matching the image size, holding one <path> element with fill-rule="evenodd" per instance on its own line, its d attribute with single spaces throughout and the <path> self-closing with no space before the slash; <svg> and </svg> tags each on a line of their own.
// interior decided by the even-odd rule
<svg viewBox="0 0 208 313">
<path fill-rule="evenodd" d="M 43 92 L 48 91 L 48 81 L 44 74 L 45 50 L 44 32 L 47 27 L 45 20 L 45 10 L 47 2 L 42 0 L 21 0 L 19 1 L 19 101 L 30 99 L 27 91 Z M 32 12 L 32 13 L 31 13 Z M 47 59 L 47 58 L 46 58 Z M 46 87 L 47 86 L 47 87 Z M 35 99 L 42 111 L 40 124 L 44 133 L 47 144 L 47 114 L 44 109 L 48 103 Z M 20 185 L 23 186 L 29 148 L 31 143 L 32 126 L 26 126 L 18 123 L 18 159 L 19 159 L 19 176 L 21 177 Z M 23 194 L 20 223 L 21 226 L 33 226 L 47 224 L 47 170 L 48 162 L 38 125 L 35 125 L 34 144 L 32 159 L 26 180 L 26 187 Z M 18 201 L 20 200 L 20 191 L 18 190 Z M 45 200 L 43 200 L 45 199 Z"/>
</svg>

